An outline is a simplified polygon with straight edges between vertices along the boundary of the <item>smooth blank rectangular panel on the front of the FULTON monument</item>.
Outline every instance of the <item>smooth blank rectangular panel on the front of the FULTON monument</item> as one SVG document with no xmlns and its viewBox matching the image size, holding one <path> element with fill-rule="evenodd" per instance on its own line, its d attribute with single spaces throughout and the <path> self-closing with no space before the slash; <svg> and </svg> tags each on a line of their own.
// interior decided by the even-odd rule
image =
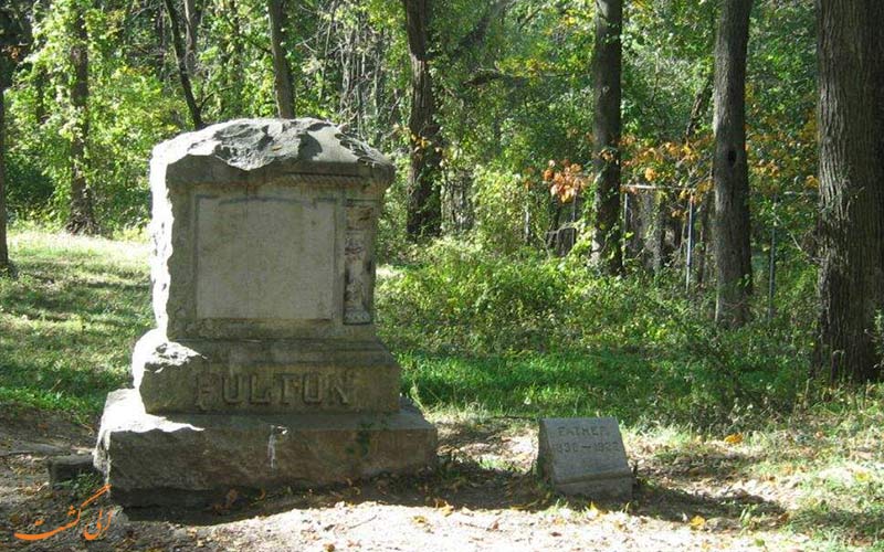
<svg viewBox="0 0 884 552">
<path fill-rule="evenodd" d="M 332 318 L 334 199 L 265 185 L 194 200 L 197 318 Z"/>
</svg>

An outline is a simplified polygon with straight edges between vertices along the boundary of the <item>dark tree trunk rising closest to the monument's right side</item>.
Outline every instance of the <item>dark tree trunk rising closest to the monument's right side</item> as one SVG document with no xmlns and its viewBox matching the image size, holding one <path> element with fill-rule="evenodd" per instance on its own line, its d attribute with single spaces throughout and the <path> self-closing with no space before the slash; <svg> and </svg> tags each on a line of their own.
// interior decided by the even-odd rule
<svg viewBox="0 0 884 552">
<path fill-rule="evenodd" d="M 442 162 L 439 124 L 435 120 L 433 81 L 427 51 L 431 0 L 402 0 L 406 8 L 411 57 L 411 114 L 408 119 L 411 168 L 406 232 L 410 240 L 441 232 L 442 202 L 439 179 Z"/>
</svg>

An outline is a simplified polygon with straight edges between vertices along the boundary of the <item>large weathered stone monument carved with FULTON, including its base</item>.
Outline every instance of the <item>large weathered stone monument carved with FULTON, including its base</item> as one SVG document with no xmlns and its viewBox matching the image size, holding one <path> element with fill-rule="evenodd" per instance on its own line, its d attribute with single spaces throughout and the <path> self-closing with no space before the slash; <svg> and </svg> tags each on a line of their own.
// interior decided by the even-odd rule
<svg viewBox="0 0 884 552">
<path fill-rule="evenodd" d="M 124 505 L 313 487 L 435 460 L 375 332 L 391 163 L 316 119 L 239 119 L 154 149 L 152 304 L 94 458 Z"/>
</svg>

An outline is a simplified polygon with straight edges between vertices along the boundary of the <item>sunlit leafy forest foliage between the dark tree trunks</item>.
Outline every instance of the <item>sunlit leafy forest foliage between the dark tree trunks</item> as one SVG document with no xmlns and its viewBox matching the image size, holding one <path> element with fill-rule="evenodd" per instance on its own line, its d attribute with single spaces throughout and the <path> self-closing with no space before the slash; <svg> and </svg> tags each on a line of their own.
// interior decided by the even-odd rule
<svg viewBox="0 0 884 552">
<path fill-rule="evenodd" d="M 277 114 L 265 2 L 63 0 L 25 8 L 19 23 L 28 41 L 17 46 L 20 66 L 7 92 L 15 217 L 67 222 L 77 131 L 95 222 L 113 232 L 146 223 L 146 160 L 158 141 L 194 124 Z M 411 66 L 402 2 L 283 8 L 293 113 L 345 125 L 394 157 L 404 184 Z M 442 232 L 470 231 L 499 251 L 541 246 L 556 230 L 551 219 L 567 215 L 558 208 L 571 203 L 568 187 L 550 197 L 543 179 L 549 161 L 591 166 L 593 2 L 434 1 L 429 9 Z M 659 194 L 636 190 L 635 199 L 665 194 L 671 205 L 662 214 L 683 219 L 690 193 L 677 189 L 701 202 L 711 187 L 716 3 L 636 1 L 624 9 L 623 183 L 662 187 Z M 817 185 L 814 21 L 807 1 L 757 2 L 747 64 L 754 214 L 767 223 L 775 195 L 797 194 L 780 213 L 797 233 L 812 220 L 798 212 L 814 203 L 800 198 Z M 73 97 L 72 52 L 81 47 L 84 105 Z M 391 231 L 406 229 L 406 197 L 402 189 L 390 193 Z"/>
</svg>

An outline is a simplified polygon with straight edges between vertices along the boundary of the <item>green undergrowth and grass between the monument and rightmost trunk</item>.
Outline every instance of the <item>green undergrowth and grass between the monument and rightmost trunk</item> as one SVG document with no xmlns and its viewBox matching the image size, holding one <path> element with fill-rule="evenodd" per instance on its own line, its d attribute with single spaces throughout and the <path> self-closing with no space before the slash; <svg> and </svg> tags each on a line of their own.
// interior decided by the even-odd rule
<svg viewBox="0 0 884 552">
<path fill-rule="evenodd" d="M 602 278 L 578 257 L 440 242 L 381 282 L 379 325 L 423 404 L 528 415 L 615 413 L 743 427 L 788 413 L 806 380 L 812 274 L 783 315 L 736 331 L 676 278 Z"/>
</svg>

